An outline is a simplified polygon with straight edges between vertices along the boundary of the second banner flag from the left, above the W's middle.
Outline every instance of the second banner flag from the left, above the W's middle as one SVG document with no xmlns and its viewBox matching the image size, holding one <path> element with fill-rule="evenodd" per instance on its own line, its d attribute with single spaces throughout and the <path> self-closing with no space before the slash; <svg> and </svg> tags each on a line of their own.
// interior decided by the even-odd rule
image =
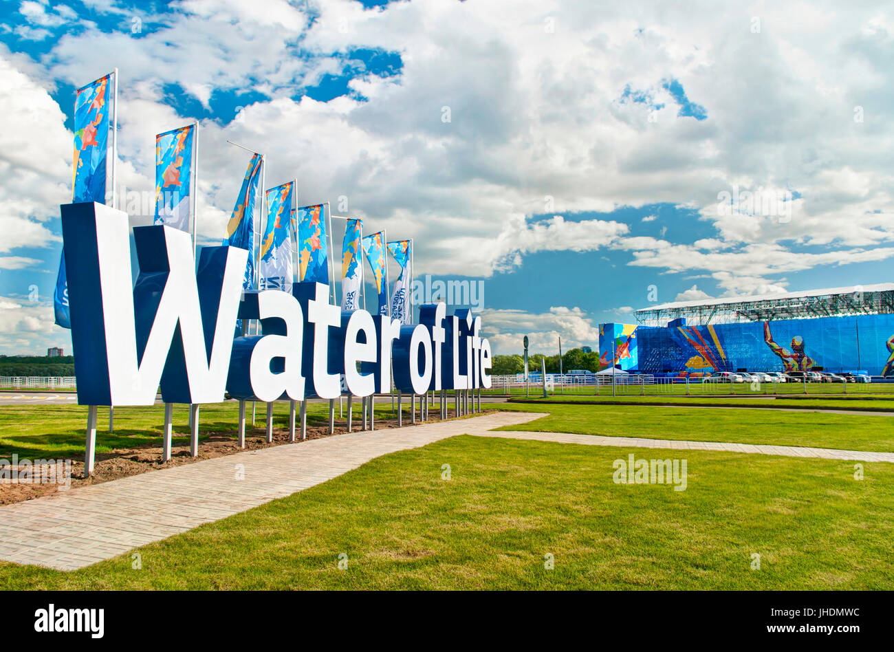
<svg viewBox="0 0 894 652">
<path fill-rule="evenodd" d="M 190 231 L 196 124 L 156 136 L 156 216 L 153 224 Z"/>
</svg>

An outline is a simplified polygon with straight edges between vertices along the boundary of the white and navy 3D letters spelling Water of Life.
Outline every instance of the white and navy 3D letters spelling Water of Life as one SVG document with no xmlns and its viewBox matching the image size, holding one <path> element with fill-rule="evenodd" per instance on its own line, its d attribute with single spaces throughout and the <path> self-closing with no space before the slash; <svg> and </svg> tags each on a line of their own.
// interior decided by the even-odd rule
<svg viewBox="0 0 894 652">
<path fill-rule="evenodd" d="M 350 394 L 490 387 L 491 347 L 481 318 L 443 303 L 420 307 L 416 326 L 365 310 L 342 312 L 323 284 L 292 293 L 243 292 L 249 252 L 204 247 L 198 271 L 189 233 L 135 228 L 139 275 L 131 286 L 127 215 L 100 204 L 62 207 L 78 402 L 151 405 L 271 402 Z M 257 319 L 261 334 L 235 333 Z"/>
</svg>

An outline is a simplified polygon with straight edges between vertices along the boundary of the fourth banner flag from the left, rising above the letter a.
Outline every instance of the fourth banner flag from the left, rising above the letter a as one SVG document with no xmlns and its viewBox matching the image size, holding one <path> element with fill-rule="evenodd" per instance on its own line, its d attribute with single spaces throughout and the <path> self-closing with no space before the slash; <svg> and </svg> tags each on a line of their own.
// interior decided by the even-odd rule
<svg viewBox="0 0 894 652">
<path fill-rule="evenodd" d="M 261 238 L 261 290 L 291 292 L 291 225 L 295 203 L 295 182 L 283 183 L 267 191 L 267 223 Z"/>
</svg>

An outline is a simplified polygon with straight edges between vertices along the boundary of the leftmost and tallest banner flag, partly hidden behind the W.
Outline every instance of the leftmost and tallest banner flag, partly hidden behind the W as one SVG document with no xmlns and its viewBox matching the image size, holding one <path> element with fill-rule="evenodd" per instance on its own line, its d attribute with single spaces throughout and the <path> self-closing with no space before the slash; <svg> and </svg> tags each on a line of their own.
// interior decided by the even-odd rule
<svg viewBox="0 0 894 652">
<path fill-rule="evenodd" d="M 114 130 L 116 89 L 114 72 L 80 88 L 74 97 L 74 165 L 72 165 L 72 203 L 106 203 L 113 196 Z M 112 168 L 112 169 L 110 169 Z M 68 284 L 65 279 L 65 250 L 59 262 L 53 292 L 55 323 L 71 328 L 68 311 Z"/>
</svg>

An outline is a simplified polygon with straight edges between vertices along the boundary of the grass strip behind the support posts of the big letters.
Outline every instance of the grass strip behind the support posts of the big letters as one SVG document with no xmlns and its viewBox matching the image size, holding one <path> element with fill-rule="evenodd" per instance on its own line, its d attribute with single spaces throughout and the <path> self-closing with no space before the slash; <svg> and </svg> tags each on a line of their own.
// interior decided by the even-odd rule
<svg viewBox="0 0 894 652">
<path fill-rule="evenodd" d="M 403 410 L 409 410 L 403 402 Z M 347 418 L 348 402 L 344 402 L 345 418 L 339 419 L 335 405 L 335 423 L 343 426 Z M 297 411 L 297 407 L 296 407 Z M 246 434 L 263 436 L 266 428 L 266 404 L 257 403 L 255 427 L 251 427 L 251 403 L 246 407 Z M 354 402 L 354 428 L 360 425 L 360 404 Z M 99 408 L 97 453 L 108 453 L 114 448 L 136 445 L 161 445 L 164 426 L 164 405 L 137 408 L 117 408 L 114 411 L 114 433 L 108 432 L 107 408 Z M 391 401 L 379 398 L 375 404 L 376 419 L 390 418 Z M 405 418 L 409 417 L 405 414 Z M 239 403 L 206 403 L 199 410 L 199 437 L 208 433 L 232 434 L 236 437 Z M 296 424 L 299 417 L 296 415 Z M 409 422 L 409 421 L 408 421 Z M 174 445 L 190 441 L 189 407 L 176 404 L 173 409 Z M 308 402 L 308 426 L 329 423 L 329 404 Z M 289 403 L 274 403 L 274 425 L 289 427 Z M 296 425 L 296 428 L 298 426 Z M 80 405 L 4 405 L 0 406 L 0 457 L 18 453 L 20 458 L 52 457 L 80 458 L 84 454 L 87 431 L 87 407 Z"/>
</svg>

